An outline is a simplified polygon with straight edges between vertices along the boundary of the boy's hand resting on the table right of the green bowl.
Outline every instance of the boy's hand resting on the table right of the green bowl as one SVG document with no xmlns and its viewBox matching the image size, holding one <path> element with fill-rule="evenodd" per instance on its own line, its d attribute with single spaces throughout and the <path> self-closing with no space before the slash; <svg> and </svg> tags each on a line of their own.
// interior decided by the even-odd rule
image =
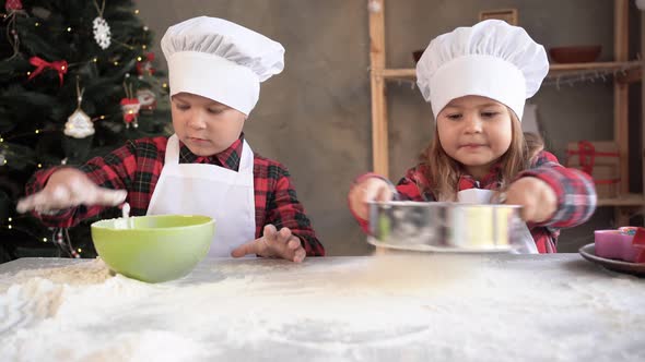
<svg viewBox="0 0 645 362">
<path fill-rule="evenodd" d="M 272 225 L 265 227 L 265 234 L 261 238 L 237 246 L 231 253 L 231 256 L 242 257 L 248 254 L 281 257 L 295 263 L 302 263 L 306 256 L 301 240 L 292 234 L 289 228 L 282 228 L 278 231 Z"/>
</svg>

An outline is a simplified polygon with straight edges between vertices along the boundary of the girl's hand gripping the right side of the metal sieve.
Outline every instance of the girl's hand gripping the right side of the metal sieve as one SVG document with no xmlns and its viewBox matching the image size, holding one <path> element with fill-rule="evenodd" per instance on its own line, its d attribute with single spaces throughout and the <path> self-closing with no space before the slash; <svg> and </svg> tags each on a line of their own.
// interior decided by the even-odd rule
<svg viewBox="0 0 645 362">
<path fill-rule="evenodd" d="M 511 184 L 505 203 L 521 205 L 521 218 L 525 221 L 544 222 L 555 213 L 558 195 L 547 182 L 526 177 Z"/>
</svg>

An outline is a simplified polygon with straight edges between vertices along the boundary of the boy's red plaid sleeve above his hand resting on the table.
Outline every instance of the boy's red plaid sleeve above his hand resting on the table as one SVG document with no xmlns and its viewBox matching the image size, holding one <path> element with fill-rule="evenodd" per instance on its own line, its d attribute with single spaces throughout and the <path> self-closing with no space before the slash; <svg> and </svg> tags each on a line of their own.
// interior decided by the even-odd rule
<svg viewBox="0 0 645 362">
<path fill-rule="evenodd" d="M 266 225 L 273 224 L 278 230 L 289 228 L 298 237 L 307 256 L 325 256 L 325 248 L 318 241 L 312 222 L 305 214 L 286 168 L 282 165 L 269 166 L 269 177 L 275 178 L 272 192 L 267 193 Z"/>
</svg>

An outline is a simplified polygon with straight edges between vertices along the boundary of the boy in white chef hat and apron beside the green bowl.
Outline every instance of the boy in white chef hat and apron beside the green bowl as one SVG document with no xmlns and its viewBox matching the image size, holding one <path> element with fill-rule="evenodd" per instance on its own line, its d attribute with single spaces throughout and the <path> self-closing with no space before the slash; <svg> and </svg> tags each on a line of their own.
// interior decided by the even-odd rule
<svg viewBox="0 0 645 362">
<path fill-rule="evenodd" d="M 212 256 L 324 255 L 288 170 L 254 154 L 242 132 L 260 83 L 282 72 L 284 48 L 207 16 L 171 26 L 161 45 L 175 134 L 129 142 L 80 168 L 37 172 L 19 210 L 69 227 L 128 202 L 132 215 L 213 217 Z"/>
</svg>

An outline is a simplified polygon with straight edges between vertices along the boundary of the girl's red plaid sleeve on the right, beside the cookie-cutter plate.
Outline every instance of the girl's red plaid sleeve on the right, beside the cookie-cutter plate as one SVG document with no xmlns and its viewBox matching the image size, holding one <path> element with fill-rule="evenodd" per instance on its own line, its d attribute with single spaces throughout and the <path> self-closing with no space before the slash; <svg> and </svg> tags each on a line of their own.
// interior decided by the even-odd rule
<svg viewBox="0 0 645 362">
<path fill-rule="evenodd" d="M 594 180 L 579 170 L 566 168 L 548 152 L 537 156 L 533 167 L 518 178 L 535 177 L 547 182 L 558 195 L 558 208 L 550 220 L 539 224 L 549 228 L 571 228 L 585 222 L 596 210 Z"/>
</svg>

